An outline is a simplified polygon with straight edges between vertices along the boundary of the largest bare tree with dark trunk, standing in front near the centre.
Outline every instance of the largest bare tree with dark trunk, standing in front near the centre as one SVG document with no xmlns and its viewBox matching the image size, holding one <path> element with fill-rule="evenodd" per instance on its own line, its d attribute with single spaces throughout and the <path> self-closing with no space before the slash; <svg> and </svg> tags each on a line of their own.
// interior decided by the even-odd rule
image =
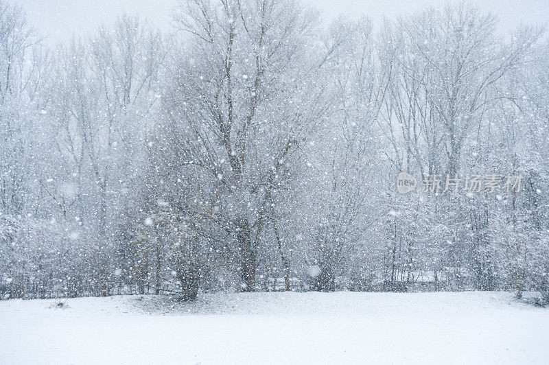
<svg viewBox="0 0 549 365">
<path fill-rule="evenodd" d="M 279 184 L 277 161 L 290 161 L 324 107 L 322 91 L 303 94 L 318 81 L 306 58 L 316 16 L 285 1 L 181 1 L 174 20 L 192 36 L 166 104 L 179 164 L 209 182 L 215 220 L 237 244 L 242 290 L 254 291 L 253 232 Z"/>
</svg>

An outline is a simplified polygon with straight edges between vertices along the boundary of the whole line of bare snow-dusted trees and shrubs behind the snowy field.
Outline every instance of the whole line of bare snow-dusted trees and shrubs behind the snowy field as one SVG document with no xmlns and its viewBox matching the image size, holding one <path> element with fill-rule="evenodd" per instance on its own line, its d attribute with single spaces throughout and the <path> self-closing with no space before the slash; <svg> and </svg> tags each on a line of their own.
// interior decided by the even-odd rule
<svg viewBox="0 0 549 365">
<path fill-rule="evenodd" d="M 173 34 L 124 15 L 51 48 L 0 0 L 3 298 L 549 301 L 543 30 L 500 34 L 466 3 L 375 32 L 285 0 L 180 1 L 172 18 Z M 418 189 L 398 193 L 399 172 Z M 501 185 L 467 189 L 474 174 Z"/>
</svg>

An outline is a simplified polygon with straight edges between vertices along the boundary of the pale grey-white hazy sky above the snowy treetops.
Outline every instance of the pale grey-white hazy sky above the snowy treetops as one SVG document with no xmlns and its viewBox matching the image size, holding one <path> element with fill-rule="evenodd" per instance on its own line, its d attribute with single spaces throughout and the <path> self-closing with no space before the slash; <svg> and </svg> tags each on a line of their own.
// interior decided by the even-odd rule
<svg viewBox="0 0 549 365">
<path fill-rule="evenodd" d="M 10 0 L 8 0 L 10 1 Z M 118 14 L 140 14 L 162 30 L 170 30 L 170 11 L 176 0 L 11 0 L 23 6 L 28 19 L 47 43 L 95 30 L 101 23 L 112 23 Z M 521 21 L 544 25 L 549 22 L 549 0 L 473 0 L 480 8 L 498 14 L 500 29 L 515 27 Z M 365 13 L 379 23 L 384 15 L 396 16 L 446 0 L 309 0 L 323 10 L 325 18 L 338 14 Z"/>
</svg>

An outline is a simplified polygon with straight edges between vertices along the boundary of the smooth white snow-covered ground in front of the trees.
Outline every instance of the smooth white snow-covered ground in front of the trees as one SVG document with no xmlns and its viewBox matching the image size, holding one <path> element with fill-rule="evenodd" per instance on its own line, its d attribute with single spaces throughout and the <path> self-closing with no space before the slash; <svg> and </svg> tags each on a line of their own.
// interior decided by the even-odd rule
<svg viewBox="0 0 549 365">
<path fill-rule="evenodd" d="M 512 294 L 211 294 L 0 301 L 1 364 L 548 364 Z"/>
</svg>

